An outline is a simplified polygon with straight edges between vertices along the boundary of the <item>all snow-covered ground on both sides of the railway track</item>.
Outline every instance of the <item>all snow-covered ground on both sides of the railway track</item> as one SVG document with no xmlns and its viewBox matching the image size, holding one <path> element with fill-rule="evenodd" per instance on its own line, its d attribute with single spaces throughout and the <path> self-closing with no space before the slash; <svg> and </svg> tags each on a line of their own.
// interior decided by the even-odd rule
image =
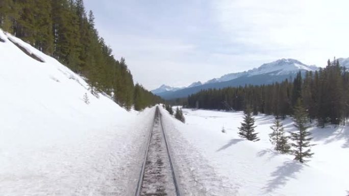
<svg viewBox="0 0 349 196">
<path fill-rule="evenodd" d="M 55 59 L 0 38 L 0 195 L 134 195 L 155 108 L 96 98 Z M 270 116 L 256 117 L 254 143 L 237 135 L 242 113 L 184 109 L 183 124 L 161 111 L 183 195 L 348 193 L 348 127 L 312 128 L 315 155 L 301 164 L 272 150 Z"/>
</svg>

